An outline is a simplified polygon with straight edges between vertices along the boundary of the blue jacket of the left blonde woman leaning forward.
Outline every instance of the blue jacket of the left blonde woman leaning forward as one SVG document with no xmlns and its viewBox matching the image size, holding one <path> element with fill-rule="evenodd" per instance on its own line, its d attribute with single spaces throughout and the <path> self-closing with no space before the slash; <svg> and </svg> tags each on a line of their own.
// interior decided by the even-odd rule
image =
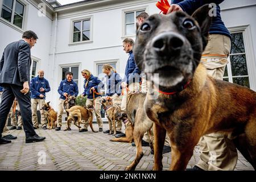
<svg viewBox="0 0 256 182">
<path fill-rule="evenodd" d="M 84 80 L 84 92 L 82 93 L 82 95 L 87 96 L 87 98 L 89 98 L 89 99 L 93 99 L 93 92 L 92 91 L 90 92 L 90 89 L 92 87 L 94 87 L 96 92 L 99 93 L 101 88 L 103 88 L 103 86 L 104 86 L 104 84 L 98 79 L 98 77 L 93 76 L 93 75 L 90 75 L 89 82 L 88 82 L 87 86 L 85 86 L 86 82 L 87 82 L 87 80 L 85 79 Z M 100 96 L 102 96 L 102 95 L 94 93 L 94 98 L 100 97 Z"/>
</svg>

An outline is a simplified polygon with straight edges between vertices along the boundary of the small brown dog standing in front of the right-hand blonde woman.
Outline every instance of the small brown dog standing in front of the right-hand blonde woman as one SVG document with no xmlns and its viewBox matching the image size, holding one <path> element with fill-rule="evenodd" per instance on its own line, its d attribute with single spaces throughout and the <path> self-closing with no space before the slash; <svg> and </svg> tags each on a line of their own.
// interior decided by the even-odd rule
<svg viewBox="0 0 256 182">
<path fill-rule="evenodd" d="M 101 99 L 101 104 L 103 106 L 103 109 L 106 112 L 108 121 L 109 121 L 109 135 L 112 134 L 112 126 L 114 129 L 114 135 L 117 134 L 117 127 L 115 126 L 115 121 L 118 118 L 118 114 L 121 113 L 121 109 L 118 105 L 112 105 L 110 100 L 106 98 Z"/>
</svg>

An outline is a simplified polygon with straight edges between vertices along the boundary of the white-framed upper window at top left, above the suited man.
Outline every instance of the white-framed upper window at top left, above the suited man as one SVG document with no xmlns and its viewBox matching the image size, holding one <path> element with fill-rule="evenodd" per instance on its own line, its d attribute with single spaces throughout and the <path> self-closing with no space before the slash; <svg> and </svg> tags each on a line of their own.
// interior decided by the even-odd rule
<svg viewBox="0 0 256 182">
<path fill-rule="evenodd" d="M 16 26 L 13 21 L 14 21 L 14 13 L 15 13 L 15 6 L 16 6 L 16 1 L 19 1 L 20 3 L 22 3 L 22 5 L 24 6 L 24 12 L 23 12 L 23 18 L 22 18 L 22 28 Z M 0 0 L 0 15 L 2 14 L 2 8 L 3 8 L 3 0 Z M 14 0 L 13 3 L 13 10 L 11 13 L 11 22 L 9 22 L 8 20 L 2 18 L 2 16 L 0 16 L 0 22 L 5 23 L 7 26 L 14 28 L 16 31 L 19 31 L 20 33 L 23 33 L 24 30 L 26 29 L 26 24 L 27 24 L 27 7 L 28 7 L 28 3 L 26 1 L 23 0 Z"/>
</svg>

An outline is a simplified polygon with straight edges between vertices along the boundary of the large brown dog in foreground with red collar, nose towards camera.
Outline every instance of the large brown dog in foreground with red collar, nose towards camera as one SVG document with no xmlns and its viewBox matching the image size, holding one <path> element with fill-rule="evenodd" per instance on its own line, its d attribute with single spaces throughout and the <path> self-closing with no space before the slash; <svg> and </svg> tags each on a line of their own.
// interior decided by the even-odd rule
<svg viewBox="0 0 256 182">
<path fill-rule="evenodd" d="M 163 168 L 166 133 L 170 169 L 184 170 L 200 137 L 220 131 L 237 136 L 238 150 L 256 168 L 256 93 L 209 77 L 200 63 L 212 19 L 208 13 L 205 5 L 192 16 L 152 15 L 137 31 L 135 61 L 148 77 L 144 109 L 155 123 L 154 170 Z M 149 73 L 159 73 L 159 79 Z"/>
</svg>

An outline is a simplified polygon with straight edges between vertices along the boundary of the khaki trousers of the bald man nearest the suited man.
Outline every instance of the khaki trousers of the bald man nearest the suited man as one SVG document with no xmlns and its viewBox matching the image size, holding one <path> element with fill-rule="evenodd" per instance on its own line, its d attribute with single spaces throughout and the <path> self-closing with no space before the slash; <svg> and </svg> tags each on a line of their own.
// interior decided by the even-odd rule
<svg viewBox="0 0 256 182">
<path fill-rule="evenodd" d="M 40 110 L 41 114 L 41 124 L 42 126 L 47 126 L 47 121 L 46 121 L 46 113 L 42 109 L 42 106 L 44 104 L 44 99 L 36 99 L 36 98 L 31 98 L 31 109 L 32 109 L 32 123 L 34 127 L 38 127 L 38 107 Z"/>
</svg>

